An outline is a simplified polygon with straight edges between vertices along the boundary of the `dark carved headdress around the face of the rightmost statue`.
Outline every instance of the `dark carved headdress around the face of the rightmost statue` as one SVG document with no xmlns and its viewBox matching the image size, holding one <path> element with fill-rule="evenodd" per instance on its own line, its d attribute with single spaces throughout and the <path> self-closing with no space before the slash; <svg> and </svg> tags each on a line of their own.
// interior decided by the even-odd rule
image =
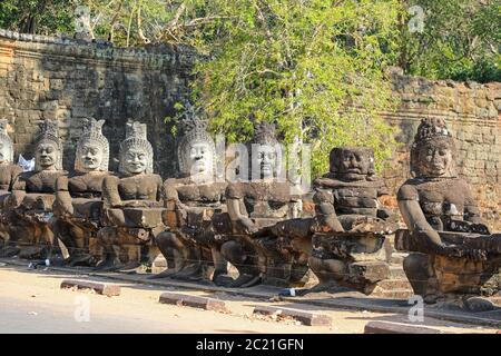
<svg viewBox="0 0 501 356">
<path fill-rule="evenodd" d="M 431 142 L 434 145 L 445 145 L 452 150 L 452 157 L 455 158 L 454 138 L 451 131 L 449 131 L 445 121 L 440 118 L 422 119 L 411 147 L 411 171 L 414 174 L 418 174 L 419 170 L 420 150 Z"/>
</svg>

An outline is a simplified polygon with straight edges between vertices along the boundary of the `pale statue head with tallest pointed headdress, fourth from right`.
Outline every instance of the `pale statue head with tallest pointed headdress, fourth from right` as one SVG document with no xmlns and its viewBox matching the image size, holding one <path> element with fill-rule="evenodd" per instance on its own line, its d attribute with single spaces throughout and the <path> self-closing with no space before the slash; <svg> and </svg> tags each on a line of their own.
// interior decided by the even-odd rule
<svg viewBox="0 0 501 356">
<path fill-rule="evenodd" d="M 184 136 L 177 147 L 179 170 L 183 175 L 214 177 L 216 169 L 216 146 L 207 132 L 207 121 L 197 118 L 194 108 L 187 103 L 181 125 Z"/>
</svg>

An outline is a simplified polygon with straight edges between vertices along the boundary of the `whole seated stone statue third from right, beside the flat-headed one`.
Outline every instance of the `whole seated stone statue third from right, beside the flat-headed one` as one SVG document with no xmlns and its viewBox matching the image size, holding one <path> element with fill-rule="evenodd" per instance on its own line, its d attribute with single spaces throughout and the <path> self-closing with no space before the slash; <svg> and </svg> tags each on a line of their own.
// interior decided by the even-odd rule
<svg viewBox="0 0 501 356">
<path fill-rule="evenodd" d="M 239 276 L 229 283 L 230 287 L 247 287 L 261 281 L 288 284 L 306 274 L 307 266 L 295 265 L 291 241 L 277 238 L 272 231 L 277 222 L 297 218 L 299 197 L 291 194 L 291 185 L 277 180 L 278 155 L 275 127 L 258 123 L 249 149 L 250 166 L 257 168 L 258 178 L 250 181 L 228 184 L 226 204 L 232 220 L 232 234 L 222 245 L 223 256 L 238 270 Z M 298 276 L 294 271 L 299 270 Z M 216 281 L 217 283 L 217 281 Z"/>
</svg>

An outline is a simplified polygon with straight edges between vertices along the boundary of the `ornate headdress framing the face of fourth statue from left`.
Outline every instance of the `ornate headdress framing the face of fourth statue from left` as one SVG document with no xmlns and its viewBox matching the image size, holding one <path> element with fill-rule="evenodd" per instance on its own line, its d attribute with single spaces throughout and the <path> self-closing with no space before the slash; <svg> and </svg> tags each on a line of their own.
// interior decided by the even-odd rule
<svg viewBox="0 0 501 356">
<path fill-rule="evenodd" d="M 139 121 L 129 120 L 126 125 L 126 138 L 120 144 L 120 164 L 118 167 L 118 171 L 125 174 L 125 154 L 132 147 L 137 147 L 139 149 L 145 150 L 148 156 L 148 165 L 146 167 L 147 174 L 153 174 L 153 147 L 148 141 L 148 132 L 146 129 L 146 123 L 141 123 Z"/>
</svg>

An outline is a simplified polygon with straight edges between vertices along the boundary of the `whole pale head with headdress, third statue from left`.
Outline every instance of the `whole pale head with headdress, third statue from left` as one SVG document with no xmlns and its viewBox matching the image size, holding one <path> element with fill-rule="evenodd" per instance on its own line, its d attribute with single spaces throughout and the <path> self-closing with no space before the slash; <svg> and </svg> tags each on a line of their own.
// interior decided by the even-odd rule
<svg viewBox="0 0 501 356">
<path fill-rule="evenodd" d="M 85 119 L 84 134 L 77 144 L 75 170 L 107 171 L 109 160 L 109 142 L 102 135 L 105 120 Z"/>
</svg>

